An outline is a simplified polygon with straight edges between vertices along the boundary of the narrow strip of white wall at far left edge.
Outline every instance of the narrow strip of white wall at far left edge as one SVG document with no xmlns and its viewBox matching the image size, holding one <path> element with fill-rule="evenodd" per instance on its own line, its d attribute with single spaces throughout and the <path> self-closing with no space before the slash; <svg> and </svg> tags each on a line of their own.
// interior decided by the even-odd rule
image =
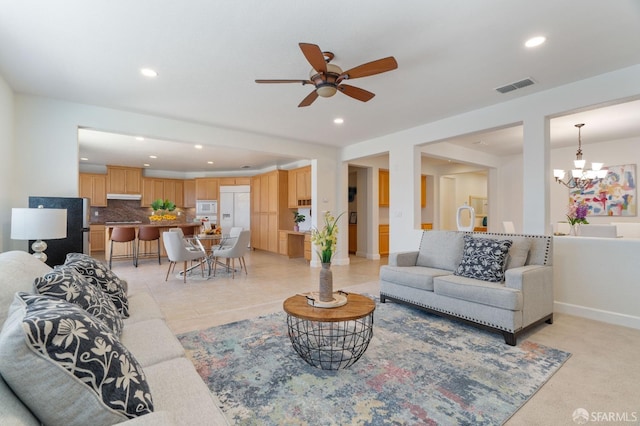
<svg viewBox="0 0 640 426">
<path fill-rule="evenodd" d="M 0 252 L 8 249 L 11 236 L 11 192 L 13 176 L 13 91 L 0 76 Z"/>
</svg>

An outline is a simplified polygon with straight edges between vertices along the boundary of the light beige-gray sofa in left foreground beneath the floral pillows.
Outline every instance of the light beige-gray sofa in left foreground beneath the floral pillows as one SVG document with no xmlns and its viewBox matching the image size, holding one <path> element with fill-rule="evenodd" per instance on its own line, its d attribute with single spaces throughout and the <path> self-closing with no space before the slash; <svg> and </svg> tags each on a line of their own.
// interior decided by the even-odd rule
<svg viewBox="0 0 640 426">
<path fill-rule="evenodd" d="M 42 370 L 42 357 L 33 349 L 27 350 L 26 354 L 18 355 L 8 353 L 6 347 L 1 347 L 7 345 L 10 340 L 7 334 L 11 328 L 10 323 L 15 321 L 12 318 L 16 316 L 16 310 L 23 309 L 20 301 L 17 300 L 18 297 L 37 299 L 34 296 L 25 296 L 24 293 L 33 294 L 36 277 L 42 277 L 50 271 L 52 271 L 50 267 L 26 252 L 0 253 L 0 324 L 4 324 L 0 333 L 0 356 L 2 357 L 0 364 L 5 366 L 5 369 L 1 370 L 4 378 L 0 378 L 0 424 L 5 426 L 43 423 L 105 424 L 104 421 L 98 420 L 98 415 L 94 418 L 90 413 L 96 404 L 102 403 L 95 401 L 95 395 L 89 397 L 86 406 L 76 407 L 76 409 L 80 408 L 80 411 L 89 412 L 83 415 L 89 416 L 90 421 L 79 420 L 76 417 L 77 413 L 71 414 L 72 406 L 78 403 L 79 398 L 72 397 L 71 391 L 62 389 L 67 389 L 66 386 L 75 386 L 76 390 L 82 388 L 79 392 L 84 393 L 85 385 L 82 380 L 69 377 L 69 374 L 57 365 L 54 367 L 44 364 L 45 367 Z M 24 293 L 17 296 L 18 292 Z M 219 408 L 219 401 L 209 392 L 193 364 L 184 357 L 182 346 L 167 327 L 153 297 L 147 292 L 140 291 L 128 294 L 127 299 L 129 317 L 122 321 L 119 341 L 135 357 L 144 372 L 150 398 L 153 400 L 153 412 L 132 418 L 122 416 L 120 413 L 107 412 L 111 417 L 121 417 L 121 420 L 111 423 L 132 426 L 228 424 Z M 22 318 L 19 322 L 22 322 L 21 326 L 24 329 L 27 322 Z M 25 337 L 23 340 L 28 338 Z M 58 343 L 60 342 L 59 340 Z M 62 343 L 68 344 L 69 341 L 62 341 Z M 12 371 L 7 371 L 6 365 L 9 361 L 15 361 L 10 358 L 33 356 L 29 352 L 37 354 L 34 357 L 33 370 L 29 370 L 29 374 L 23 374 L 24 377 L 18 377 L 18 380 L 15 375 L 12 375 L 12 379 L 9 380 L 9 375 L 5 374 Z M 38 365 L 41 368 L 39 373 Z M 64 388 L 61 387 L 61 382 L 65 382 Z M 39 391 L 31 392 L 30 386 L 34 389 L 38 388 Z M 17 396 L 18 394 L 22 399 Z M 48 406 L 54 408 L 47 408 Z M 49 419 L 49 414 L 53 411 L 59 419 L 57 422 Z M 67 411 L 70 414 L 65 418 Z"/>
</svg>

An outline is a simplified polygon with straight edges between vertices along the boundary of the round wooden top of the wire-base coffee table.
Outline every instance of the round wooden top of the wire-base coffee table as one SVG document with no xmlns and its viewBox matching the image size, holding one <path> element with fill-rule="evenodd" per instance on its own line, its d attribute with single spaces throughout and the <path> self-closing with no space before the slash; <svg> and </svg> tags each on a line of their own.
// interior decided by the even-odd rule
<svg viewBox="0 0 640 426">
<path fill-rule="evenodd" d="M 282 304 L 284 311 L 296 318 L 309 321 L 351 321 L 369 315 L 376 309 L 373 299 L 356 293 L 347 294 L 347 304 L 337 308 L 317 308 L 309 305 L 307 298 L 296 294 Z"/>
</svg>

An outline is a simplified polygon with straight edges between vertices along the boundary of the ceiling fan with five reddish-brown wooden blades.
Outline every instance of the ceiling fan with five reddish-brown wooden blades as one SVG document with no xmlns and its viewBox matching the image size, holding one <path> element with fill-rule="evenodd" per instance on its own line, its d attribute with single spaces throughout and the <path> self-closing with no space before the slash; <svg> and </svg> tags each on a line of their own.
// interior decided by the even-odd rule
<svg viewBox="0 0 640 426">
<path fill-rule="evenodd" d="M 323 52 L 318 45 L 311 43 L 299 43 L 299 45 L 302 54 L 307 58 L 307 61 L 309 61 L 312 67 L 308 80 L 256 80 L 256 83 L 301 83 L 303 86 L 305 84 L 313 84 L 315 90 L 309 93 L 309 95 L 300 102 L 298 107 L 311 105 L 313 101 L 318 99 L 318 96 L 329 98 L 335 95 L 337 91 L 359 101 L 367 102 L 373 98 L 375 94 L 360 89 L 359 87 L 343 84 L 342 82 L 344 80 L 381 74 L 398 68 L 398 63 L 395 58 L 389 56 L 367 62 L 366 64 L 351 68 L 348 71 L 342 71 L 339 66 L 330 63 L 334 58 L 333 53 Z"/>
</svg>

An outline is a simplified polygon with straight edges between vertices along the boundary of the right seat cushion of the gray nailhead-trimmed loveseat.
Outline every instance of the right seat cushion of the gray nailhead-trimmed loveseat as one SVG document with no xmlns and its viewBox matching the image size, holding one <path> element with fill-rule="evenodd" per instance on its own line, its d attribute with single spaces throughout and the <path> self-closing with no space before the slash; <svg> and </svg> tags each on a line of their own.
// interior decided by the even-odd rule
<svg viewBox="0 0 640 426">
<path fill-rule="evenodd" d="M 519 311 L 522 309 L 522 292 L 507 288 L 502 283 L 481 281 L 457 275 L 437 277 L 433 283 L 434 293 L 500 309 Z"/>
</svg>

